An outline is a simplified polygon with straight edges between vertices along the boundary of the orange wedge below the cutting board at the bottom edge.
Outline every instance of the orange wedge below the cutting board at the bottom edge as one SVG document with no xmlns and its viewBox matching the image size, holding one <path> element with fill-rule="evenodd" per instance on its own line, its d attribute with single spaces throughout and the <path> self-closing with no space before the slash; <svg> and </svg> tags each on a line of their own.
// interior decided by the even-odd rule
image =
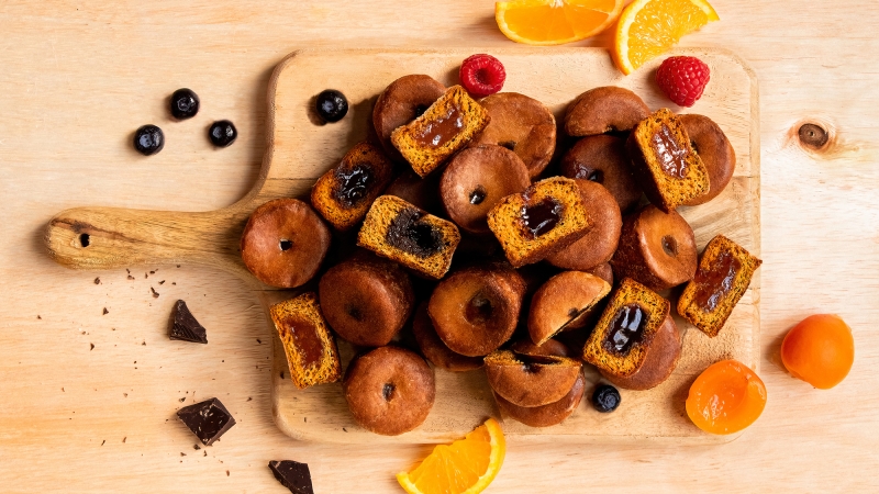
<svg viewBox="0 0 879 494">
<path fill-rule="evenodd" d="M 412 471 L 398 473 L 397 481 L 410 494 L 476 494 L 494 480 L 505 452 L 503 430 L 489 418 L 464 439 L 434 448 Z"/>
</svg>

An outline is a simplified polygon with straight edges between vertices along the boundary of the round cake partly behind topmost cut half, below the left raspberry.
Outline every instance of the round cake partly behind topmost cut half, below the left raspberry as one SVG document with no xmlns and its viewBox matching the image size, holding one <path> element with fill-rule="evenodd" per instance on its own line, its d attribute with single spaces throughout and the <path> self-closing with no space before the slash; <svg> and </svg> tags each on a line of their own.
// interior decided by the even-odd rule
<svg viewBox="0 0 879 494">
<path fill-rule="evenodd" d="M 556 119 L 539 101 L 518 92 L 482 98 L 491 121 L 470 146 L 496 144 L 515 153 L 535 178 L 546 168 L 556 148 Z"/>
</svg>

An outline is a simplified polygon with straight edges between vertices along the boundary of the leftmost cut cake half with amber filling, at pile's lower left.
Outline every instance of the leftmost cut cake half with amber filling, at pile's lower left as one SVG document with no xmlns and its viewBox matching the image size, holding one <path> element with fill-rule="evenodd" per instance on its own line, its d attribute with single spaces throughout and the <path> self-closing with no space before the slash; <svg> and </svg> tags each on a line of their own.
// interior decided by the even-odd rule
<svg viewBox="0 0 879 494">
<path fill-rule="evenodd" d="M 342 377 L 336 341 L 314 293 L 275 304 L 268 310 L 290 367 L 290 379 L 303 390 Z"/>
</svg>

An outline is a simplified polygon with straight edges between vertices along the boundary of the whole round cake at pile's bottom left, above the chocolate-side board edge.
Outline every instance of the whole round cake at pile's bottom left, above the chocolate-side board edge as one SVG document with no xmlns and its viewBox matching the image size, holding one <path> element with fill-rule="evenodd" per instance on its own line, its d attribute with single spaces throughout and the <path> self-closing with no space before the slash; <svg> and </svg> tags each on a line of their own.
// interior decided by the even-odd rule
<svg viewBox="0 0 879 494">
<path fill-rule="evenodd" d="M 420 426 L 436 396 L 427 362 L 398 347 L 379 347 L 354 359 L 342 389 L 357 424 L 383 436 Z"/>
</svg>

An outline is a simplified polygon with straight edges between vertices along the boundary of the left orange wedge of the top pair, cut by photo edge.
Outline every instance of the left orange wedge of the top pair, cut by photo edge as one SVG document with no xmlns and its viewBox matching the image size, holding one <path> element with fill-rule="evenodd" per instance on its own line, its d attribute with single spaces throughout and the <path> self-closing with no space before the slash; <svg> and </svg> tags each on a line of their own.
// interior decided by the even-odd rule
<svg viewBox="0 0 879 494">
<path fill-rule="evenodd" d="M 494 20 L 516 43 L 560 45 L 604 31 L 623 10 L 623 0 L 514 0 L 494 3 Z"/>
</svg>

